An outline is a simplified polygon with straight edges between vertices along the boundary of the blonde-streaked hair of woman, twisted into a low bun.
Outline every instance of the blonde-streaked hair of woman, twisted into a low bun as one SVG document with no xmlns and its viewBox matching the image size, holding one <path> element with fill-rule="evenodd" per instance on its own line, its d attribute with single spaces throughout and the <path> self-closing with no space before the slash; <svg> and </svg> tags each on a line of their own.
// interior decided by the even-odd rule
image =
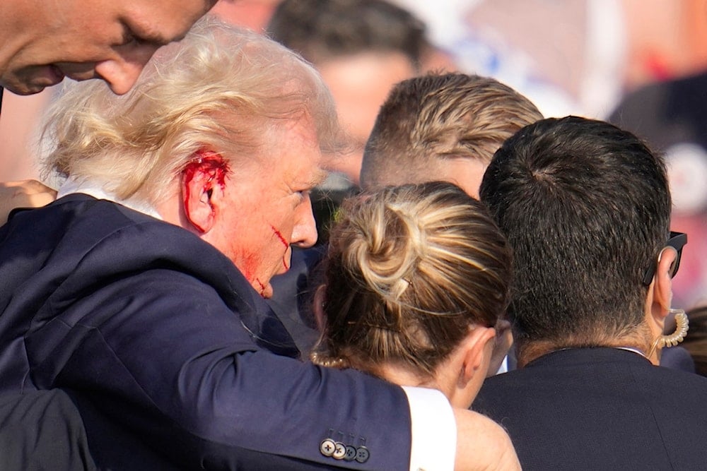
<svg viewBox="0 0 707 471">
<path fill-rule="evenodd" d="M 325 275 L 315 362 L 429 376 L 471 326 L 504 314 L 510 249 L 457 186 L 404 185 L 344 202 Z"/>
</svg>

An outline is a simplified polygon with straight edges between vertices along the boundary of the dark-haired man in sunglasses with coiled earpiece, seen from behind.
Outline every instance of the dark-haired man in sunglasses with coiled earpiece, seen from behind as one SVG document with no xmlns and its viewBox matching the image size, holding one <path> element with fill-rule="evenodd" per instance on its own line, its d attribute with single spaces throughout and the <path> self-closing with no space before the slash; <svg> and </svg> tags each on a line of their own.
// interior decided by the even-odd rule
<svg viewBox="0 0 707 471">
<path fill-rule="evenodd" d="M 655 366 L 686 242 L 662 159 L 611 124 L 545 119 L 496 152 L 481 200 L 513 247 L 520 369 L 474 408 L 523 469 L 701 469 L 707 380 Z"/>
</svg>

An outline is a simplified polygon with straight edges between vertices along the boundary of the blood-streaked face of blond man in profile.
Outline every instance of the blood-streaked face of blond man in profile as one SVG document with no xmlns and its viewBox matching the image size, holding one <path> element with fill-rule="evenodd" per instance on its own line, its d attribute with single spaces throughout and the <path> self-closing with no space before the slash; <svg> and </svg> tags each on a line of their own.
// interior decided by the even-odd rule
<svg viewBox="0 0 707 471">
<path fill-rule="evenodd" d="M 257 165 L 233 168 L 226 184 L 230 203 L 212 242 L 263 297 L 272 296 L 271 278 L 290 268 L 290 246 L 317 242 L 309 191 L 325 177 L 309 119 L 274 132 L 277 144 L 262 150 Z"/>
</svg>

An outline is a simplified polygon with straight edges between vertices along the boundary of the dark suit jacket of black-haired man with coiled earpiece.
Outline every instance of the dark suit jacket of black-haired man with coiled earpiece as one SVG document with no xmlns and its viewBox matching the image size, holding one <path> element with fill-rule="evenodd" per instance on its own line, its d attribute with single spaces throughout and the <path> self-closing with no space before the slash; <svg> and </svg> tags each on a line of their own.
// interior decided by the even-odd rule
<svg viewBox="0 0 707 471">
<path fill-rule="evenodd" d="M 707 378 L 612 348 L 560 350 L 486 379 L 474 410 L 523 470 L 704 470 Z"/>
</svg>

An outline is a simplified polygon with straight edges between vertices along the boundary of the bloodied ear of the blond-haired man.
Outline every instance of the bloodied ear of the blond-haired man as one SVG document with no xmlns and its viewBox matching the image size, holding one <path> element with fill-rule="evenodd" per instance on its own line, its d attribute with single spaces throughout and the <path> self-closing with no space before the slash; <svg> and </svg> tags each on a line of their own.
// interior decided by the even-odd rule
<svg viewBox="0 0 707 471">
<path fill-rule="evenodd" d="M 194 158 L 182 170 L 184 213 L 187 220 L 201 234 L 214 227 L 214 189 L 223 192 L 229 171 L 226 160 L 211 150 L 199 150 L 194 153 Z"/>
</svg>

